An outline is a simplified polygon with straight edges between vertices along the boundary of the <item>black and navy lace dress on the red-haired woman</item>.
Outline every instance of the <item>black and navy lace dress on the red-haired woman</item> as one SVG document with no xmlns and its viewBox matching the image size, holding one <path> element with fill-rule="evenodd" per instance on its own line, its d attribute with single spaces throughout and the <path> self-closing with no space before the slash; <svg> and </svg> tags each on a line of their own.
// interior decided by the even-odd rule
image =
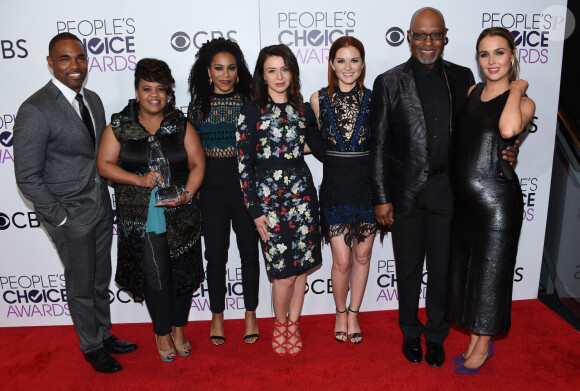
<svg viewBox="0 0 580 391">
<path fill-rule="evenodd" d="M 335 88 L 318 92 L 319 118 L 326 149 L 320 187 L 320 225 L 326 241 L 344 235 L 347 245 L 377 232 L 371 201 L 370 96 L 355 86 L 348 92 Z"/>
</svg>

